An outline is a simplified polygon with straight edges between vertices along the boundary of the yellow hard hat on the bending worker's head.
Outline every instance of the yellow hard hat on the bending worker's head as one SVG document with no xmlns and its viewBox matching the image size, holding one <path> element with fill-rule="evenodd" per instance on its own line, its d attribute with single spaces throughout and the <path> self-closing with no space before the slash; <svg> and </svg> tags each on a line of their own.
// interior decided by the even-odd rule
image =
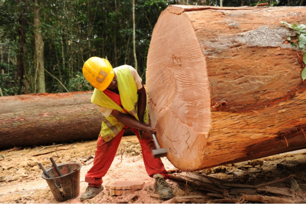
<svg viewBox="0 0 306 204">
<path fill-rule="evenodd" d="M 91 57 L 84 63 L 83 75 L 93 87 L 103 91 L 111 84 L 115 73 L 107 59 Z"/>
</svg>

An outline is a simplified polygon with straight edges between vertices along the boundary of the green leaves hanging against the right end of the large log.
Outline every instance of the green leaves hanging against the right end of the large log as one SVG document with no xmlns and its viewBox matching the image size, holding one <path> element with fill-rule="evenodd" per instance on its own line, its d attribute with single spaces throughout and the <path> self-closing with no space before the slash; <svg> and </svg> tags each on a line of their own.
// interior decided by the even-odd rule
<svg viewBox="0 0 306 204">
<path fill-rule="evenodd" d="M 299 50 L 303 51 L 303 62 L 304 64 L 306 64 L 306 53 L 305 53 L 305 44 L 306 44 L 306 26 L 303 25 L 303 24 L 300 24 L 300 25 L 297 25 L 297 24 L 288 24 L 288 22 L 284 22 L 284 21 L 281 21 L 282 24 L 285 24 L 286 26 L 288 26 L 289 28 L 293 29 L 298 38 L 297 38 L 297 41 L 298 41 L 298 44 L 296 44 L 295 42 L 292 42 L 291 41 L 291 37 L 288 36 L 287 37 L 287 40 L 291 43 L 292 46 L 294 47 L 297 47 Z M 302 73 L 301 73 L 301 76 L 302 76 L 302 79 L 305 80 L 306 79 L 306 69 L 304 67 L 304 69 L 302 70 Z"/>
</svg>

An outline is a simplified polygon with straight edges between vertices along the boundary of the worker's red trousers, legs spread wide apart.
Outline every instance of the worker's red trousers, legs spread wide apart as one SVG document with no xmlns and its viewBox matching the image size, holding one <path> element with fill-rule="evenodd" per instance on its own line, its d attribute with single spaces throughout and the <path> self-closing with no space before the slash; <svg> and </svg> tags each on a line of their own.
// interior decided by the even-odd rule
<svg viewBox="0 0 306 204">
<path fill-rule="evenodd" d="M 123 128 L 121 132 L 119 132 L 116 137 L 109 142 L 104 142 L 104 140 L 99 136 L 97 141 L 97 149 L 93 160 L 93 166 L 85 175 L 85 182 L 87 182 L 89 186 L 99 187 L 103 183 L 102 177 L 105 176 L 112 165 L 124 129 L 125 128 Z M 170 178 L 161 159 L 153 158 L 152 156 L 151 149 L 156 148 L 154 141 L 151 138 L 148 138 L 146 133 L 143 134 L 143 139 L 141 140 L 139 138 L 138 129 L 132 128 L 132 131 L 137 135 L 137 138 L 140 142 L 143 162 L 148 175 L 152 177 L 154 174 L 160 173 L 166 179 Z"/>
</svg>

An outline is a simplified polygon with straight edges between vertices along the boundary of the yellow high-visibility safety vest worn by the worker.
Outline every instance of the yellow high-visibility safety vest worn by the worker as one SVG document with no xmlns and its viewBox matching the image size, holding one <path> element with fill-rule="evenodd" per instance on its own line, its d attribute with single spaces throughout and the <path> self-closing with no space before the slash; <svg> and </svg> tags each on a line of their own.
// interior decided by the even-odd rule
<svg viewBox="0 0 306 204">
<path fill-rule="evenodd" d="M 137 115 L 138 89 L 135 79 L 129 69 L 129 66 L 127 65 L 118 66 L 114 69 L 114 72 L 117 76 L 119 96 L 123 108 L 127 110 L 130 115 L 134 116 L 137 121 L 139 121 Z M 93 95 L 91 97 L 91 103 L 101 107 L 116 109 L 122 112 L 123 114 L 128 114 L 115 101 L 110 99 L 104 92 L 101 92 L 96 88 L 93 91 Z M 105 142 L 109 142 L 113 138 L 115 138 L 116 135 L 122 130 L 124 124 L 119 122 L 112 115 L 108 117 L 102 116 L 102 120 L 103 122 L 101 124 L 100 135 Z M 149 123 L 147 108 L 145 109 L 144 112 L 143 121 L 147 124 Z M 140 135 L 140 137 L 142 138 L 142 135 Z"/>
</svg>

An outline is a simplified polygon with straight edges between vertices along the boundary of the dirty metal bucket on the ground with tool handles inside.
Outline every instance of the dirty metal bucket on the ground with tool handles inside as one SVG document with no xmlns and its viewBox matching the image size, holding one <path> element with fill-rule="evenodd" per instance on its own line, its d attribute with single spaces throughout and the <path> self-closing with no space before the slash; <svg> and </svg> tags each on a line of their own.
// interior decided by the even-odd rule
<svg viewBox="0 0 306 204">
<path fill-rule="evenodd" d="M 50 178 L 44 173 L 41 174 L 41 177 L 47 181 L 56 201 L 66 201 L 77 197 L 80 194 L 80 170 L 82 165 L 80 163 L 66 163 L 57 166 L 62 176 L 56 177 L 58 173 L 54 167 L 46 170 Z"/>
</svg>

